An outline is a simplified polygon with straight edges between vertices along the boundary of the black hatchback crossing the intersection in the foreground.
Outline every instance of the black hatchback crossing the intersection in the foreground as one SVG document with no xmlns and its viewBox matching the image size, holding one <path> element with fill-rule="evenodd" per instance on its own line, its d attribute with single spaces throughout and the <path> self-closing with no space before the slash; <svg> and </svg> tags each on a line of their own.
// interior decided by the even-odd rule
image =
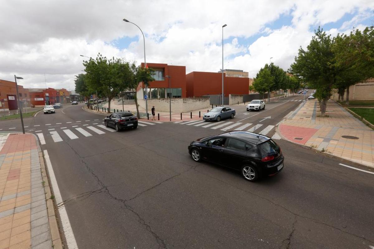
<svg viewBox="0 0 374 249">
<path fill-rule="evenodd" d="M 196 162 L 206 160 L 240 171 L 248 181 L 275 175 L 283 169 L 281 148 L 271 138 L 248 131 L 229 131 L 203 137 L 188 146 Z"/>
</svg>

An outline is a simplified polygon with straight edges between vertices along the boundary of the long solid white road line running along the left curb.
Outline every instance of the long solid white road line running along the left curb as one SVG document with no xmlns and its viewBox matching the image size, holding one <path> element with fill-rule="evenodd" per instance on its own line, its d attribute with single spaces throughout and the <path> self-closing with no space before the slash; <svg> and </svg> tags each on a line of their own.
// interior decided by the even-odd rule
<svg viewBox="0 0 374 249">
<path fill-rule="evenodd" d="M 67 248 L 78 249 L 77 242 L 75 240 L 74 233 L 70 225 L 69 217 L 66 212 L 65 205 L 62 201 L 61 193 L 57 185 L 55 173 L 53 172 L 52 163 L 50 162 L 48 152 L 47 150 L 44 150 L 43 153 L 44 158 L 46 159 L 49 180 L 52 184 L 53 195 L 55 196 L 56 203 L 58 203 L 57 210 L 60 214 L 62 229 L 64 230 Z"/>
</svg>

